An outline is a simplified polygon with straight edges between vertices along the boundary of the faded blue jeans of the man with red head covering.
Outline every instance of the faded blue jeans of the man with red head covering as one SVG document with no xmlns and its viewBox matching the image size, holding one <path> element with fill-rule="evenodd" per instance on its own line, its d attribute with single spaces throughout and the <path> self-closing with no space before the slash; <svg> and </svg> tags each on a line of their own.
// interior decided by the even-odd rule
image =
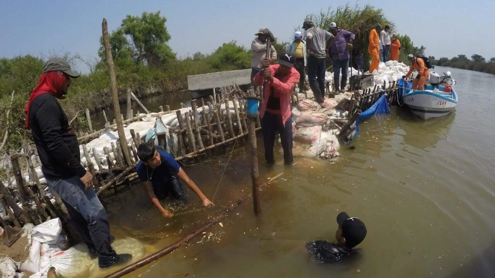
<svg viewBox="0 0 495 278">
<path fill-rule="evenodd" d="M 63 200 L 74 228 L 88 245 L 88 249 L 97 253 L 99 265 L 114 262 L 116 253 L 110 246 L 106 212 L 95 190 L 86 190 L 78 177 L 47 180 L 47 183 Z"/>
</svg>

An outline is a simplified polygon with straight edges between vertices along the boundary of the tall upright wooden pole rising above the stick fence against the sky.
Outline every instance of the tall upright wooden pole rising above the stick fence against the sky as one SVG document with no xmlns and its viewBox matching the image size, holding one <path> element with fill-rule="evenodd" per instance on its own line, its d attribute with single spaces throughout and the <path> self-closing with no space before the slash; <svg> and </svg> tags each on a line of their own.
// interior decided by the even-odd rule
<svg viewBox="0 0 495 278">
<path fill-rule="evenodd" d="M 117 79 L 115 78 L 115 69 L 113 67 L 113 57 L 110 49 L 110 42 L 108 40 L 108 27 L 105 18 L 103 18 L 103 22 L 101 23 L 101 32 L 103 33 L 103 46 L 105 47 L 106 64 L 108 65 L 108 72 L 110 73 L 110 85 L 113 96 L 113 111 L 117 124 L 117 133 L 119 135 L 119 141 L 120 145 L 122 146 L 122 153 L 124 154 L 125 162 L 127 165 L 132 165 L 131 156 L 129 155 L 129 149 L 127 148 L 127 140 L 125 139 L 124 127 L 122 125 L 122 118 L 119 117 L 120 104 L 119 96 L 117 93 Z"/>
</svg>

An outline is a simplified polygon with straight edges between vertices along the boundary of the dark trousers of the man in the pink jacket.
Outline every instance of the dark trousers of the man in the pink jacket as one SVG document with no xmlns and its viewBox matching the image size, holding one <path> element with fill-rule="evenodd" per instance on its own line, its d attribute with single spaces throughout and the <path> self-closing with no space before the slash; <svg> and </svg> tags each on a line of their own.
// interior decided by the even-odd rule
<svg viewBox="0 0 495 278">
<path fill-rule="evenodd" d="M 267 164 L 273 164 L 273 147 L 275 146 L 275 135 L 280 134 L 280 141 L 284 149 L 284 163 L 292 164 L 292 117 L 287 119 L 285 126 L 282 124 L 282 115 L 265 112 L 261 119 L 261 131 L 263 132 L 263 144 L 265 145 L 265 159 Z"/>
</svg>

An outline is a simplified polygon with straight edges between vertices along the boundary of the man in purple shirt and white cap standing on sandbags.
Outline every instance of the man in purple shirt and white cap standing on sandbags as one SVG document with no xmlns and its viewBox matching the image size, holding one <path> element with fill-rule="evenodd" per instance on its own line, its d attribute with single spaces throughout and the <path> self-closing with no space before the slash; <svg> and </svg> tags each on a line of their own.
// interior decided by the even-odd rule
<svg viewBox="0 0 495 278">
<path fill-rule="evenodd" d="M 335 43 L 330 46 L 330 57 L 334 68 L 335 94 L 346 93 L 347 70 L 349 69 L 349 50 L 352 49 L 354 34 L 344 29 L 338 29 L 337 24 L 330 24 L 330 33 L 335 36 Z M 342 81 L 339 75 L 342 70 Z M 340 85 L 340 91 L 339 91 Z"/>
</svg>

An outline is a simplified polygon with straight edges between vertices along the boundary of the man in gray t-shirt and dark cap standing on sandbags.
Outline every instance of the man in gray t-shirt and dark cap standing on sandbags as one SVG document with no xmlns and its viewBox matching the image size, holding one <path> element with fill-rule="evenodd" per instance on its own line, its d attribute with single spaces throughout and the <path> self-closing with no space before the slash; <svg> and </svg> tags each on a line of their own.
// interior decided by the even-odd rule
<svg viewBox="0 0 495 278">
<path fill-rule="evenodd" d="M 325 57 L 327 49 L 335 40 L 334 35 L 318 27 L 311 20 L 304 20 L 302 29 L 306 30 L 307 70 L 309 86 L 316 102 L 323 103 L 325 96 Z"/>
</svg>

